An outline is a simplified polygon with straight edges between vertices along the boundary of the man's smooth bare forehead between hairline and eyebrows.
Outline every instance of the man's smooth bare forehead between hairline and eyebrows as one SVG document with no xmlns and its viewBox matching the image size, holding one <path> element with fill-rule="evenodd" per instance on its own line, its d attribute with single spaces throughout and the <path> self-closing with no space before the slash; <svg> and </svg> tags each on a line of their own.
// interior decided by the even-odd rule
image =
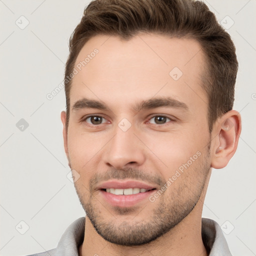
<svg viewBox="0 0 256 256">
<path fill-rule="evenodd" d="M 139 33 L 129 40 L 96 35 L 80 50 L 70 105 L 83 96 L 123 104 L 168 95 L 188 104 L 207 101 L 201 87 L 203 51 L 194 39 Z M 200 102 L 203 104 L 203 102 Z"/>
</svg>

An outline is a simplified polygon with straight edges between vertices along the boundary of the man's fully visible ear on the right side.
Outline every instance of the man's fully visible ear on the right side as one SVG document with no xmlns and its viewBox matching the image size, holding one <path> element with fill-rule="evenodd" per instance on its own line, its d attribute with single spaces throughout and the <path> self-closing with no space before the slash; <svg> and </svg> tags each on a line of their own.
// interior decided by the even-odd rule
<svg viewBox="0 0 256 256">
<path fill-rule="evenodd" d="M 223 114 L 212 130 L 211 167 L 223 168 L 236 151 L 241 133 L 241 116 L 236 110 Z"/>
</svg>

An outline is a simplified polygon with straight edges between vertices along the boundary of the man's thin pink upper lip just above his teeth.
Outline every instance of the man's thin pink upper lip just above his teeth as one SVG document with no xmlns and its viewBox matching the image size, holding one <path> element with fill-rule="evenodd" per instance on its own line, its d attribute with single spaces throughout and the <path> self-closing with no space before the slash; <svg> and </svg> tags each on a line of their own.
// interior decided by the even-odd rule
<svg viewBox="0 0 256 256">
<path fill-rule="evenodd" d="M 104 189 L 104 188 L 145 188 L 147 190 L 153 189 L 155 187 L 148 185 L 142 181 L 137 181 L 137 180 L 109 180 L 100 183 L 97 189 Z"/>
</svg>

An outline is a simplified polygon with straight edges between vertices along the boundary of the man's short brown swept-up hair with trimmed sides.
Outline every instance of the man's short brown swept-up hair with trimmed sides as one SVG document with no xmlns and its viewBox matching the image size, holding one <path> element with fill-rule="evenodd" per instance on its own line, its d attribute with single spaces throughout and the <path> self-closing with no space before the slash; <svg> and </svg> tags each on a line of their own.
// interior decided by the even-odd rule
<svg viewBox="0 0 256 256">
<path fill-rule="evenodd" d="M 197 40 L 206 56 L 202 86 L 208 97 L 208 125 L 232 109 L 238 69 L 230 35 L 201 1 L 192 0 L 93 0 L 69 39 L 65 77 L 74 68 L 78 53 L 94 35 L 118 35 L 130 39 L 138 32 L 154 32 Z M 66 128 L 70 108 L 71 79 L 65 79 Z"/>
</svg>

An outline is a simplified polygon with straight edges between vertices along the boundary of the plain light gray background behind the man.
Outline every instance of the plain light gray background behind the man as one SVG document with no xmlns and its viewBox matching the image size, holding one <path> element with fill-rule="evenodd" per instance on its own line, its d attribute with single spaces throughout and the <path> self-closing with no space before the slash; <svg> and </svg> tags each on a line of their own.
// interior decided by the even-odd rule
<svg viewBox="0 0 256 256">
<path fill-rule="evenodd" d="M 88 2 L 0 0 L 0 255 L 54 248 L 66 227 L 84 216 L 66 177 L 64 89 L 52 100 L 46 94 L 63 80 L 68 39 Z M 224 223 L 226 232 L 234 226 L 225 234 L 232 254 L 251 256 L 256 255 L 256 0 L 205 3 L 223 25 L 234 21 L 227 30 L 239 61 L 234 109 L 242 115 L 242 133 L 228 166 L 212 170 L 202 215 Z M 15 24 L 25 24 L 21 15 L 29 21 L 24 29 Z M 16 127 L 21 118 L 29 124 L 23 131 Z M 24 234 L 21 220 L 29 226 Z"/>
</svg>

